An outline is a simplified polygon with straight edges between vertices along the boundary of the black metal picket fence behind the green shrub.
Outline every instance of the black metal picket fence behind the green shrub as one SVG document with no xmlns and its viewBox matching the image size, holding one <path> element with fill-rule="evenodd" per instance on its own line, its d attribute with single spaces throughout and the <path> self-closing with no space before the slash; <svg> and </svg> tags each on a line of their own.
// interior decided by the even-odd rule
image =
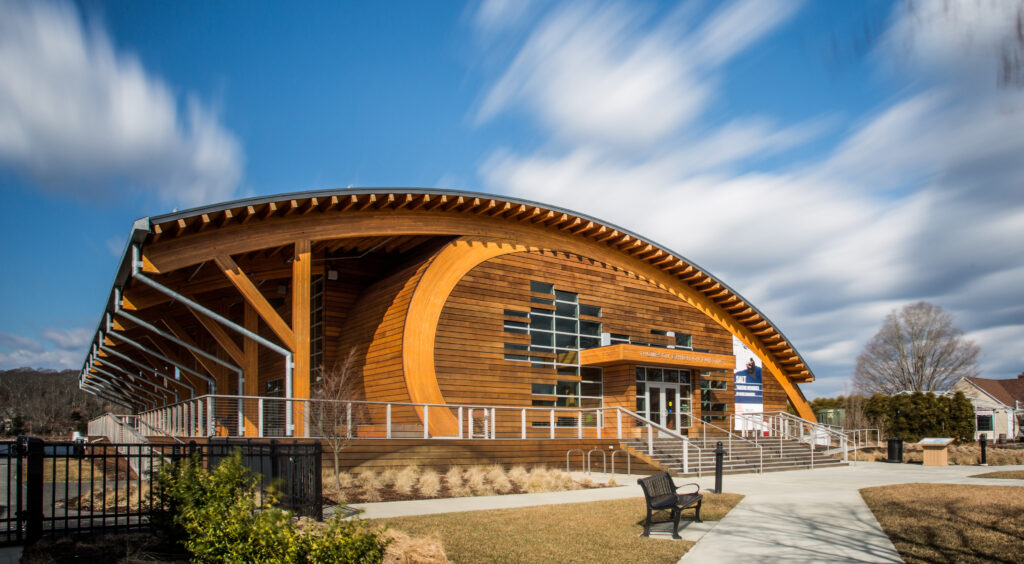
<svg viewBox="0 0 1024 564">
<path fill-rule="evenodd" d="M 161 509 L 161 469 L 195 453 L 207 469 L 234 449 L 273 486 L 281 507 L 323 518 L 322 448 L 313 443 L 217 441 L 210 444 L 111 444 L 0 441 L 0 545 L 44 534 L 75 535 L 145 528 Z"/>
</svg>

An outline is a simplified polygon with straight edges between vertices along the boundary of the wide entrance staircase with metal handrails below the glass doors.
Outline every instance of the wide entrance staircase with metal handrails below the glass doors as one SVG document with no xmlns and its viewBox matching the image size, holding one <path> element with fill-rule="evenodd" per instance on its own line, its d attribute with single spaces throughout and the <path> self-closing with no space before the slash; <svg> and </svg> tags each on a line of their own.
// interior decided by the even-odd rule
<svg viewBox="0 0 1024 564">
<path fill-rule="evenodd" d="M 729 446 L 727 436 L 708 435 L 707 446 L 700 438 L 690 440 L 691 445 L 700 447 L 689 449 L 689 472 L 683 471 L 683 443 L 679 439 L 664 438 L 654 439 L 654 454 L 647 454 L 646 439 L 623 439 L 623 448 L 629 450 L 633 455 L 647 462 L 652 466 L 675 476 L 695 476 L 698 468 L 701 474 L 714 474 L 715 472 L 715 443 L 721 440 L 723 447 L 728 452 L 723 460 L 723 472 L 726 474 L 749 474 L 758 472 L 761 468 L 761 451 L 754 444 L 745 441 L 732 439 L 732 446 Z M 818 446 L 811 451 L 810 446 L 805 442 L 795 439 L 783 439 L 781 445 L 778 438 L 764 439 L 759 442 L 764 452 L 764 471 L 777 472 L 781 470 L 801 470 L 812 468 L 825 468 L 836 466 L 846 466 L 843 462 L 843 454 L 828 455 L 824 446 Z"/>
</svg>

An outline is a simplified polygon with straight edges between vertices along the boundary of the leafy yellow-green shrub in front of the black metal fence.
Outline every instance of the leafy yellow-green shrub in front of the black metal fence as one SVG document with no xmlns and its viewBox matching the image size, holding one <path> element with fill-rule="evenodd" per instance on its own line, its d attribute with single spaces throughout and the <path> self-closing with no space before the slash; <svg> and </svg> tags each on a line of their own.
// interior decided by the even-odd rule
<svg viewBox="0 0 1024 564">
<path fill-rule="evenodd" d="M 387 541 L 359 523 L 333 520 L 299 530 L 273 507 L 272 492 L 257 502 L 257 476 L 236 451 L 212 471 L 198 457 L 168 465 L 158 494 L 165 510 L 158 530 L 197 562 L 380 562 Z"/>
</svg>

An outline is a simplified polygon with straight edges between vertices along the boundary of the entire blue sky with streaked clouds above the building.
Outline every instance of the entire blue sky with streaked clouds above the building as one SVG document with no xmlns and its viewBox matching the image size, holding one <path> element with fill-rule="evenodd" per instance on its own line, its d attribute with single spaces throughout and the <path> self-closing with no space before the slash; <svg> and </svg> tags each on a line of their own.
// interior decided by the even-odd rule
<svg viewBox="0 0 1024 564">
<path fill-rule="evenodd" d="M 647 235 L 765 311 L 812 397 L 916 300 L 1012 377 L 1021 3 L 936 6 L 0 2 L 0 367 L 81 365 L 135 218 L 355 185 Z"/>
</svg>

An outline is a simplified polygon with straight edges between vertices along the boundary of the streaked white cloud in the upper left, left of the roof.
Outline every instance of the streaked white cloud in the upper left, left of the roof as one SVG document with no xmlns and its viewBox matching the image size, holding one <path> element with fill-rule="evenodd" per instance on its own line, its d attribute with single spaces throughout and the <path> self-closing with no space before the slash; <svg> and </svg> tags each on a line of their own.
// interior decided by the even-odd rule
<svg viewBox="0 0 1024 564">
<path fill-rule="evenodd" d="M 129 186 L 195 206 L 233 194 L 243 155 L 209 106 L 194 95 L 179 104 L 72 5 L 6 1 L 0 163 L 55 193 L 86 199 Z"/>
</svg>

